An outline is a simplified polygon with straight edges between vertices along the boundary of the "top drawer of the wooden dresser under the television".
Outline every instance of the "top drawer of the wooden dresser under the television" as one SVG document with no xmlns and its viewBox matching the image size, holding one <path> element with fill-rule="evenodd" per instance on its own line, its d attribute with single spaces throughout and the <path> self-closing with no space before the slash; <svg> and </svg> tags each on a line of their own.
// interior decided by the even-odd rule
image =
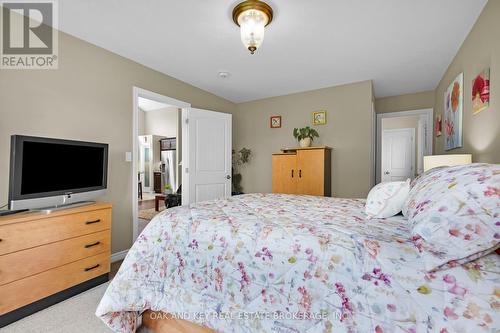
<svg viewBox="0 0 500 333">
<path fill-rule="evenodd" d="M 0 255 L 111 228 L 111 209 L 0 226 Z"/>
</svg>

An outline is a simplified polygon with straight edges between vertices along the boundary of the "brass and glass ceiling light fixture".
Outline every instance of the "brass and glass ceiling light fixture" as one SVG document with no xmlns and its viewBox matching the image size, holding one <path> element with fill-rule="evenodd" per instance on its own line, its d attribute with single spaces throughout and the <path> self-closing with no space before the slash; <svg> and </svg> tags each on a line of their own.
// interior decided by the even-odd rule
<svg viewBox="0 0 500 333">
<path fill-rule="evenodd" d="M 264 28 L 273 20 L 273 9 L 259 0 L 247 0 L 233 9 L 233 21 L 241 30 L 243 45 L 254 54 L 264 41 Z"/>
</svg>

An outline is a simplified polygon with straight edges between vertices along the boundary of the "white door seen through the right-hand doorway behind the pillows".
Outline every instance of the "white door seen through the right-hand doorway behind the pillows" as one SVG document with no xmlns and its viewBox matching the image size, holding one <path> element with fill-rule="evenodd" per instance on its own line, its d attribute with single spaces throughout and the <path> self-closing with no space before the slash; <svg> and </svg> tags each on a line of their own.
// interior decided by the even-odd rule
<svg viewBox="0 0 500 333">
<path fill-rule="evenodd" d="M 382 181 L 414 178 L 415 129 L 402 128 L 382 132 Z"/>
</svg>

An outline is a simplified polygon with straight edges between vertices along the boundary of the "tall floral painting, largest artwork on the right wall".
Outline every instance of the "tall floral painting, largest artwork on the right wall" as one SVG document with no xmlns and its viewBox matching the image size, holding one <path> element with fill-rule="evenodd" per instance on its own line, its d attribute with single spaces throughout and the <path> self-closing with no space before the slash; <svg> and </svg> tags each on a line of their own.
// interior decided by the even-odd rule
<svg viewBox="0 0 500 333">
<path fill-rule="evenodd" d="M 462 147 L 464 73 L 460 73 L 444 94 L 444 149 Z"/>
</svg>

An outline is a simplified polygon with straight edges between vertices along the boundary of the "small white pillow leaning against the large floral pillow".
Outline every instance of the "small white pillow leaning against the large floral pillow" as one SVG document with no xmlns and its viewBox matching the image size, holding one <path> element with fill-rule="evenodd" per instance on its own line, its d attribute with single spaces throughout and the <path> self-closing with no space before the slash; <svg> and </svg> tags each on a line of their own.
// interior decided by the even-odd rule
<svg viewBox="0 0 500 333">
<path fill-rule="evenodd" d="M 410 179 L 405 182 L 386 182 L 377 184 L 368 193 L 365 212 L 370 218 L 391 217 L 403 209 L 410 192 Z"/>
</svg>

